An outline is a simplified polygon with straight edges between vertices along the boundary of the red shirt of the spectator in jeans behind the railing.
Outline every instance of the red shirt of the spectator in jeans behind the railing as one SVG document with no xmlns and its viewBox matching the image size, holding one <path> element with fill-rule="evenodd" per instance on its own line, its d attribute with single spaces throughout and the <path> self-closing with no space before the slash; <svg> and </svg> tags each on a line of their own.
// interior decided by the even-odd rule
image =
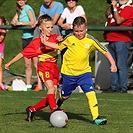
<svg viewBox="0 0 133 133">
<path fill-rule="evenodd" d="M 130 4 L 125 4 L 122 6 L 117 7 L 117 10 L 121 17 L 124 18 L 124 22 L 121 24 L 116 24 L 113 15 L 111 14 L 108 18 L 108 25 L 107 26 L 132 26 L 133 23 L 133 7 Z M 132 39 L 132 32 L 131 31 L 109 31 L 105 32 L 106 40 L 109 42 L 130 42 Z"/>
</svg>

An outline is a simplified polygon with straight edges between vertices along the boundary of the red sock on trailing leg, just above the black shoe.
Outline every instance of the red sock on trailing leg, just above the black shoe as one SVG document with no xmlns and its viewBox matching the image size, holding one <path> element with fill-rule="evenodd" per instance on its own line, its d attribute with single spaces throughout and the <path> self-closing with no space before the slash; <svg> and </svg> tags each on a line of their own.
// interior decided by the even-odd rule
<svg viewBox="0 0 133 133">
<path fill-rule="evenodd" d="M 47 98 L 43 98 L 42 100 L 40 100 L 37 104 L 31 106 L 29 108 L 29 110 L 31 112 L 35 112 L 35 111 L 38 111 L 42 108 L 45 108 L 46 106 L 48 106 L 48 102 L 47 102 Z"/>
</svg>

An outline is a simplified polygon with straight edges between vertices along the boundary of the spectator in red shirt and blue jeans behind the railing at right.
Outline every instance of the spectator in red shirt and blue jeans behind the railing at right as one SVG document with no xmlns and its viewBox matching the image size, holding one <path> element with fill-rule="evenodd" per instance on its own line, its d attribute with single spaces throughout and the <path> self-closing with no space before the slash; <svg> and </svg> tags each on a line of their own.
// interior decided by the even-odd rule
<svg viewBox="0 0 133 133">
<path fill-rule="evenodd" d="M 106 11 L 106 26 L 132 26 L 133 6 L 132 0 L 112 0 Z M 112 54 L 118 71 L 111 73 L 111 89 L 113 92 L 121 90 L 127 92 L 128 82 L 128 50 L 132 44 L 131 31 L 108 31 L 105 39 L 109 42 L 108 49 Z"/>
</svg>

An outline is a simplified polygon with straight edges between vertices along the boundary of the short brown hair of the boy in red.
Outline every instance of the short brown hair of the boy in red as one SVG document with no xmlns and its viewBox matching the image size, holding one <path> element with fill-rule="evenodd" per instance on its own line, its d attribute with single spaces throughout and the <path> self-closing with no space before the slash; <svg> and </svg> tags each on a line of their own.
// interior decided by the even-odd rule
<svg viewBox="0 0 133 133">
<path fill-rule="evenodd" d="M 53 21 L 53 19 L 48 14 L 44 14 L 38 18 L 37 26 L 40 26 L 43 22 L 47 21 Z"/>
</svg>

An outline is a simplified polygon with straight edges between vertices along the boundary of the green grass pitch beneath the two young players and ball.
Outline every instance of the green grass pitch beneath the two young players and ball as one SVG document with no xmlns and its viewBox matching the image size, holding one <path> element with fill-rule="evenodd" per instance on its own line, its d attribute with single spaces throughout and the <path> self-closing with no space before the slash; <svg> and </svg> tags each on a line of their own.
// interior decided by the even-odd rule
<svg viewBox="0 0 133 133">
<path fill-rule="evenodd" d="M 83 93 L 73 93 L 62 105 L 69 117 L 65 128 L 53 128 L 49 123 L 49 107 L 35 113 L 35 120 L 26 122 L 25 108 L 45 96 L 41 92 L 0 91 L 0 133 L 133 133 L 133 95 L 97 94 L 99 112 L 108 119 L 107 125 L 92 124 L 87 99 Z"/>
</svg>

